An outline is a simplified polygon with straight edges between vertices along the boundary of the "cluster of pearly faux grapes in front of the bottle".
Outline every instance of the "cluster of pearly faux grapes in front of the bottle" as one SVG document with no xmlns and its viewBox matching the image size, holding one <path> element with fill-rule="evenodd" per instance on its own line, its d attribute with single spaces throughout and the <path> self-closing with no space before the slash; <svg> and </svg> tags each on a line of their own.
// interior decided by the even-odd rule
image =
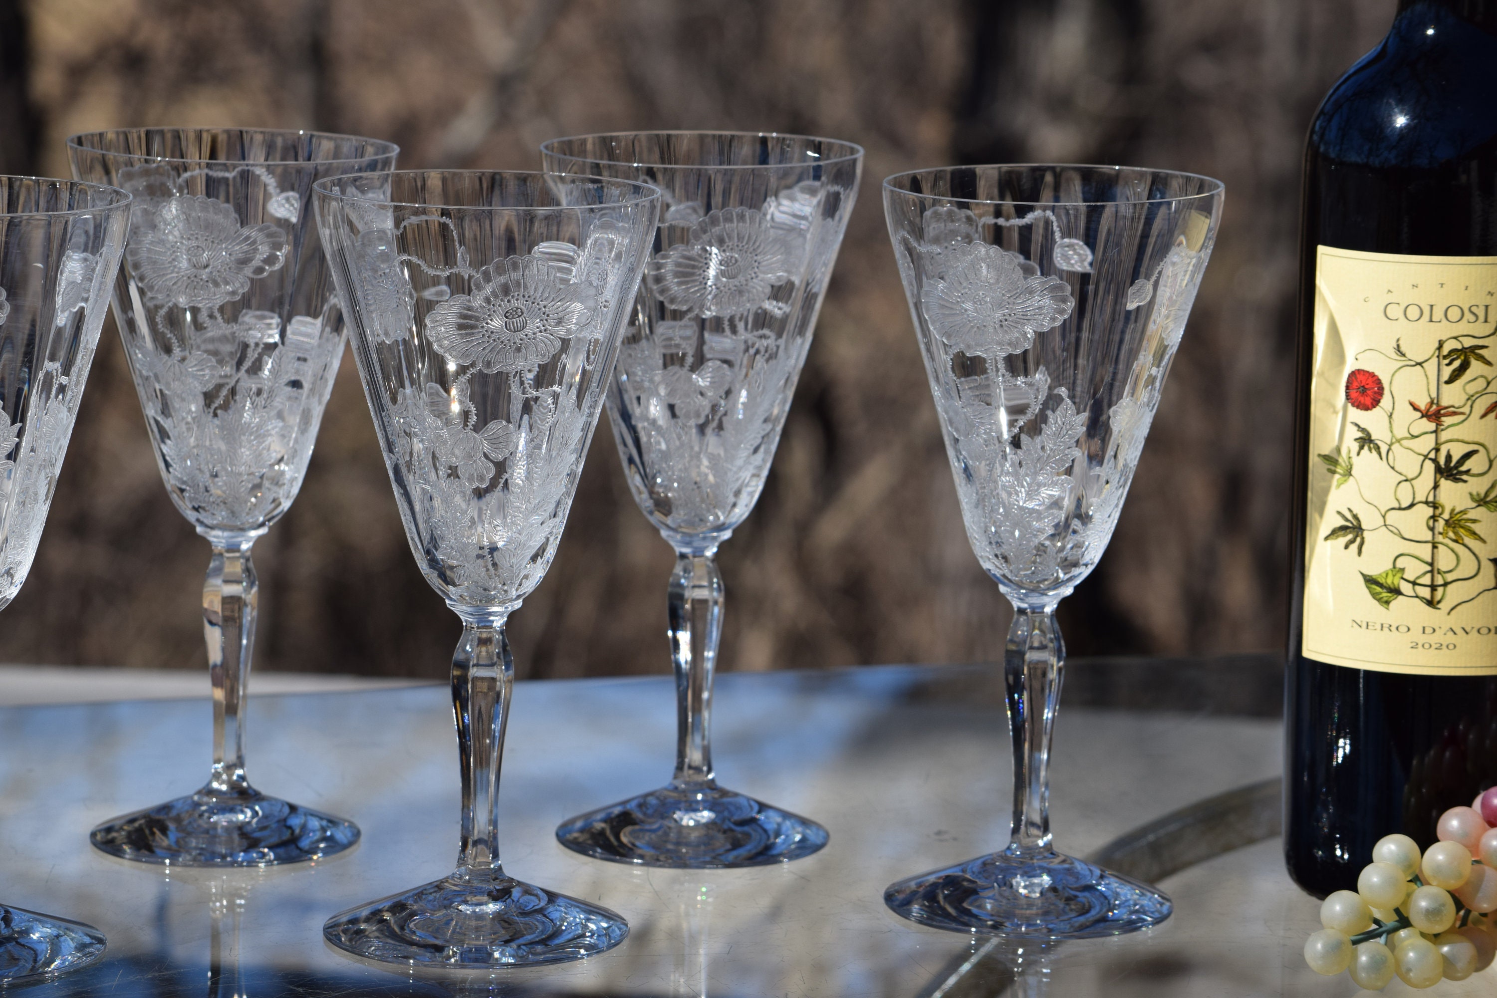
<svg viewBox="0 0 1497 998">
<path fill-rule="evenodd" d="M 1325 928 L 1305 941 L 1317 974 L 1350 971 L 1382 991 L 1397 974 L 1410 988 L 1466 980 L 1497 955 L 1497 787 L 1440 817 L 1424 856 L 1407 835 L 1373 848 L 1356 890 L 1320 905 Z M 1452 896 L 1454 895 L 1454 896 Z"/>
</svg>

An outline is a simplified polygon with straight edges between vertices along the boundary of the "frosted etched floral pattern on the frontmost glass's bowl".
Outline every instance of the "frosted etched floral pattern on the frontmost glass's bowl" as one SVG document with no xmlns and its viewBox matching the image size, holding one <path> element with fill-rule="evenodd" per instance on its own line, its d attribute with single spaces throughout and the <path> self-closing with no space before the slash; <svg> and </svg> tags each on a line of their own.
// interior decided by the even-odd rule
<svg viewBox="0 0 1497 998">
<path fill-rule="evenodd" d="M 602 362 L 594 347 L 624 281 L 638 274 L 639 250 L 627 245 L 638 233 L 602 217 L 582 245 L 540 242 L 476 268 L 445 220 L 380 218 L 364 227 L 365 214 L 349 211 L 359 232 L 346 236 L 344 250 L 364 334 L 376 346 L 410 335 L 440 358 L 419 377 L 394 361 L 388 368 L 379 361 L 373 376 L 386 386 L 377 408 L 392 444 L 391 474 L 407 483 L 397 492 L 409 497 L 401 513 L 412 545 L 449 599 L 518 601 L 555 554 L 591 432 L 587 408 L 596 417 L 600 401 L 590 374 Z M 410 251 L 413 224 L 427 229 L 424 241 L 446 241 L 457 263 L 439 266 Z M 400 335 L 382 316 L 398 320 Z"/>
</svg>

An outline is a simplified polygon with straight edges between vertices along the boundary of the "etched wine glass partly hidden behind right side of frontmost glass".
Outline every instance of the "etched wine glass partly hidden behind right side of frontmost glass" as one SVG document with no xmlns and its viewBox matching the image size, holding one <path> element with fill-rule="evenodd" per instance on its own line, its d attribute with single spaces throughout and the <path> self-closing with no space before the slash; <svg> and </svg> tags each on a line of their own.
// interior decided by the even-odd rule
<svg viewBox="0 0 1497 998">
<path fill-rule="evenodd" d="M 639 509 L 675 549 L 668 590 L 675 775 L 557 829 L 585 856 L 756 866 L 826 829 L 717 786 L 710 721 L 723 625 L 719 545 L 753 510 L 858 195 L 862 150 L 798 135 L 642 132 L 555 139 L 546 169 L 641 180 L 666 211 L 608 392 Z"/>
</svg>

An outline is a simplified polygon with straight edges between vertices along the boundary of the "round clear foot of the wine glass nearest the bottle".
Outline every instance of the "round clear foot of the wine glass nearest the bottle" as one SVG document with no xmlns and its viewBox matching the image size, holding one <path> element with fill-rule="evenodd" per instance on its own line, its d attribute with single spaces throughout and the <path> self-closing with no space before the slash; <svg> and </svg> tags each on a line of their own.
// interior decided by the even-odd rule
<svg viewBox="0 0 1497 998">
<path fill-rule="evenodd" d="M 936 929 L 1046 940 L 1136 932 L 1172 910 L 1154 887 L 1058 853 L 979 856 L 889 884 L 883 902 Z"/>
</svg>

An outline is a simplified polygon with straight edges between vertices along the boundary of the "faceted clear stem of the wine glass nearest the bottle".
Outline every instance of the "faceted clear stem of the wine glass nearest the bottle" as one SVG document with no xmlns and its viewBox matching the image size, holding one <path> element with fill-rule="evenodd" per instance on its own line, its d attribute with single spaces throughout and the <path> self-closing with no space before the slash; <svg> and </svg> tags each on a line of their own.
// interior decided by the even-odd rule
<svg viewBox="0 0 1497 998">
<path fill-rule="evenodd" d="M 1064 679 L 1066 645 L 1055 604 L 1013 606 L 1003 648 L 1003 681 L 1013 739 L 1010 856 L 1052 856 L 1049 847 L 1049 745 Z"/>
</svg>

